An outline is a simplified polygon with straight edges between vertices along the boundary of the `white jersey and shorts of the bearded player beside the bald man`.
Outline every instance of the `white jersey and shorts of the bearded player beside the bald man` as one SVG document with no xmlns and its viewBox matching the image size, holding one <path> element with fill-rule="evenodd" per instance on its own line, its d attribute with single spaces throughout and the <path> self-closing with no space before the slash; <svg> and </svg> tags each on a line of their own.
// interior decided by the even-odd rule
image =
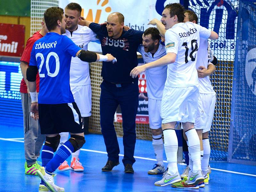
<svg viewBox="0 0 256 192">
<path fill-rule="evenodd" d="M 149 63 L 160 59 L 166 55 L 164 45 L 159 44 L 158 50 L 152 56 L 150 52 L 145 52 L 143 45 L 138 47 L 138 52 L 142 55 L 144 63 Z M 164 90 L 164 83 L 167 76 L 167 66 L 151 68 L 146 70 L 147 92 L 148 92 L 148 116 L 149 127 L 159 129 L 162 125 L 161 101 Z"/>
</svg>

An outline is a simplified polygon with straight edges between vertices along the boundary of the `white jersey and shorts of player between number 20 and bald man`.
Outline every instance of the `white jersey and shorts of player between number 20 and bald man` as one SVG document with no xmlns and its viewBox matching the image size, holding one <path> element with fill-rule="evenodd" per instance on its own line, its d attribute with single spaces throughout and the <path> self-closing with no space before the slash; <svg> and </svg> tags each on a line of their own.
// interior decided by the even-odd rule
<svg viewBox="0 0 256 192">
<path fill-rule="evenodd" d="M 78 25 L 71 33 L 66 30 L 63 35 L 68 36 L 77 46 L 87 50 L 88 43 L 97 41 L 96 34 L 88 27 Z M 92 90 L 88 62 L 72 57 L 70 65 L 70 89 L 82 117 L 91 116 Z"/>
</svg>

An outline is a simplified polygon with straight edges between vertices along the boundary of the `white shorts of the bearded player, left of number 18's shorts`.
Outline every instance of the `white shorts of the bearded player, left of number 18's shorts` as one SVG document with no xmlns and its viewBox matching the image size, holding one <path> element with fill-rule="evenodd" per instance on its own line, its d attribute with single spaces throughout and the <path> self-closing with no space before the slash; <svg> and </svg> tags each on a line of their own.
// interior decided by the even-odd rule
<svg viewBox="0 0 256 192">
<path fill-rule="evenodd" d="M 162 127 L 161 102 L 162 100 L 148 98 L 149 127 L 151 129 L 159 129 Z"/>
</svg>

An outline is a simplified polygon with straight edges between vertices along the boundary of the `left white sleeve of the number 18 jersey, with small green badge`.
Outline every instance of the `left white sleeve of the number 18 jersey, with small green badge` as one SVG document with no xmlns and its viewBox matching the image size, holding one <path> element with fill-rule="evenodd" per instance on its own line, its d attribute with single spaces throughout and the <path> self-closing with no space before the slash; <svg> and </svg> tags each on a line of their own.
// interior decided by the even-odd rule
<svg viewBox="0 0 256 192">
<path fill-rule="evenodd" d="M 165 43 L 166 53 L 176 53 L 176 54 L 178 54 L 179 37 L 174 31 L 167 30 L 165 32 L 165 42 L 164 43 Z"/>
</svg>

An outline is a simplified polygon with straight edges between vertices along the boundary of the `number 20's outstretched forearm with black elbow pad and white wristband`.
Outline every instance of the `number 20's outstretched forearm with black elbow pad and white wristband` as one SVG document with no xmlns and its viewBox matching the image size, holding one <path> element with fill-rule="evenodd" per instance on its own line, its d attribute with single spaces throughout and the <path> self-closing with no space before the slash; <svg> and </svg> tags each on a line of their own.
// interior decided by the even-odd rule
<svg viewBox="0 0 256 192">
<path fill-rule="evenodd" d="M 91 51 L 84 51 L 84 50 L 79 50 L 76 53 L 76 57 L 78 57 L 82 61 L 86 62 L 95 62 L 95 61 L 111 61 L 112 63 L 115 63 L 117 60 L 115 57 L 113 57 L 111 54 L 107 53 L 106 55 L 101 55 L 95 52 Z"/>
</svg>

